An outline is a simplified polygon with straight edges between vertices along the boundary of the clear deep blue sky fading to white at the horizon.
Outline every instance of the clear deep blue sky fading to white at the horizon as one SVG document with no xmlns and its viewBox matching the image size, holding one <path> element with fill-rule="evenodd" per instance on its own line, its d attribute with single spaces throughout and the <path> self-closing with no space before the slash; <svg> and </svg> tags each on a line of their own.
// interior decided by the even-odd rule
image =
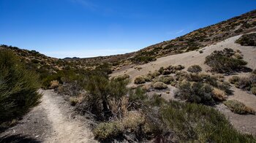
<svg viewBox="0 0 256 143">
<path fill-rule="evenodd" d="M 56 58 L 128 53 L 255 8 L 255 0 L 0 0 L 0 44 Z"/>
</svg>

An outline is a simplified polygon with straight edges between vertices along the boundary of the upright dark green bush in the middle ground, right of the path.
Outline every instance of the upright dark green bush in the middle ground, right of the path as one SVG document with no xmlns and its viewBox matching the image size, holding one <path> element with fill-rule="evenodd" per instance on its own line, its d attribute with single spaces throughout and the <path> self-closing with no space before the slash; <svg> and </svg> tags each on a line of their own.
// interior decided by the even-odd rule
<svg viewBox="0 0 256 143">
<path fill-rule="evenodd" d="M 89 94 L 83 101 L 83 107 L 79 108 L 96 115 L 98 120 L 108 120 L 108 117 L 112 116 L 109 99 L 120 100 L 121 97 L 127 95 L 128 82 L 129 80 L 108 80 L 107 77 L 101 75 L 87 77 L 85 89 Z"/>
</svg>

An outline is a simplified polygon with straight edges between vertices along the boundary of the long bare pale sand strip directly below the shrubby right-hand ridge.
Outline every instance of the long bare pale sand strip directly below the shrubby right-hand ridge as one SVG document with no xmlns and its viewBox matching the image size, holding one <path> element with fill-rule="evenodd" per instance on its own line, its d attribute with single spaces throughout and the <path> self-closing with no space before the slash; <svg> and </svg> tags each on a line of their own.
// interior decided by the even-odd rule
<svg viewBox="0 0 256 143">
<path fill-rule="evenodd" d="M 163 58 L 157 58 L 157 61 L 153 61 L 151 63 L 146 63 L 141 65 L 140 71 L 134 68 L 127 69 L 127 71 L 118 71 L 111 76 L 116 76 L 119 74 L 129 74 L 130 77 L 134 78 L 137 75 L 144 75 L 147 74 L 148 71 L 158 70 L 161 66 L 176 66 L 176 65 L 183 65 L 186 68 L 188 66 L 197 64 L 200 65 L 203 70 L 208 69 L 208 66 L 204 64 L 207 55 L 210 55 L 214 50 L 223 50 L 225 47 L 232 48 L 234 50 L 241 50 L 242 54 L 244 54 L 244 60 L 248 61 L 248 67 L 255 69 L 256 67 L 256 48 L 254 47 L 242 47 L 235 43 L 236 39 L 240 36 L 233 36 L 230 39 L 226 39 L 223 42 L 217 43 L 217 45 L 211 45 L 208 47 L 203 48 L 203 53 L 199 53 L 198 51 L 191 51 L 188 53 L 181 53 L 177 55 L 169 55 Z"/>
</svg>

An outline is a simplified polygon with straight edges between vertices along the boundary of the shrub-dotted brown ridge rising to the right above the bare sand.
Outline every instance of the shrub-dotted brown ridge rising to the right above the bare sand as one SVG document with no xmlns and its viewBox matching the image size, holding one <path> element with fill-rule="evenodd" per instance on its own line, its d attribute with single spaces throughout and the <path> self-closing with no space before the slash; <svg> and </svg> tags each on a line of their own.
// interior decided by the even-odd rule
<svg viewBox="0 0 256 143">
<path fill-rule="evenodd" d="M 197 29 L 176 39 L 146 47 L 145 49 L 138 51 L 135 54 L 135 58 L 140 55 L 140 57 L 150 56 L 151 59 L 154 59 L 166 55 L 197 50 L 201 47 L 205 47 L 206 45 L 212 45 L 216 42 L 220 42 L 231 36 L 252 31 L 255 27 L 256 10 L 222 21 L 221 23 L 217 23 L 212 26 Z"/>
</svg>

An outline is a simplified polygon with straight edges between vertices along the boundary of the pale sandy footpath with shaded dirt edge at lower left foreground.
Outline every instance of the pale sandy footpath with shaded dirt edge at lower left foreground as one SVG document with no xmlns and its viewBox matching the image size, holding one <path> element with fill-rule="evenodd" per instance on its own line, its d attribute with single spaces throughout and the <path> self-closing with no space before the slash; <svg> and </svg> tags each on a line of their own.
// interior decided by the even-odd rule
<svg viewBox="0 0 256 143">
<path fill-rule="evenodd" d="M 53 90 L 40 92 L 44 96 L 39 106 L 1 134 L 0 142 L 96 142 L 87 120 L 74 115 L 64 98 Z"/>
</svg>

